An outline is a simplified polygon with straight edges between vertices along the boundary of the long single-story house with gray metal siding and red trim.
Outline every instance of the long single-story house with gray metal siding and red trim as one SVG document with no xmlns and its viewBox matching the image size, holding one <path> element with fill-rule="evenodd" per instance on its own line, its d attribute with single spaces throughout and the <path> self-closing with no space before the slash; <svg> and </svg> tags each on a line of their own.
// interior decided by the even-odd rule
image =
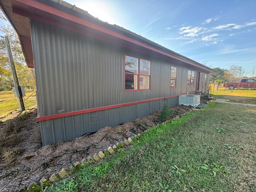
<svg viewBox="0 0 256 192">
<path fill-rule="evenodd" d="M 42 142 L 56 144 L 178 105 L 214 72 L 62 0 L 0 0 L 34 67 Z"/>
</svg>

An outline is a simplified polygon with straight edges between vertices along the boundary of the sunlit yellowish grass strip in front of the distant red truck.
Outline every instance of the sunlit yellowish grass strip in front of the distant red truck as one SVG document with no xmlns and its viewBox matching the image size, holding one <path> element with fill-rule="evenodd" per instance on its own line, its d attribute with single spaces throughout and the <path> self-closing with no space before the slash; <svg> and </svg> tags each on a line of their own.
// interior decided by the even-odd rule
<svg viewBox="0 0 256 192">
<path fill-rule="evenodd" d="M 230 99 L 229 102 L 256 104 L 256 90 L 218 90 L 212 96 L 219 99 Z"/>
</svg>

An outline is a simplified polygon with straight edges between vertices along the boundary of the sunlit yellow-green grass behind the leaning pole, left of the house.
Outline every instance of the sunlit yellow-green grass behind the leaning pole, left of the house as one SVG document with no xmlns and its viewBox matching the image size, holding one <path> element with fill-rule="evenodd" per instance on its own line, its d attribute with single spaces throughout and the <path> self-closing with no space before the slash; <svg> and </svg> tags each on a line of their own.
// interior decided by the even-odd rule
<svg viewBox="0 0 256 192">
<path fill-rule="evenodd" d="M 25 105 L 26 108 L 35 108 L 36 103 L 36 92 L 26 91 Z M 12 91 L 0 91 L 0 118 L 6 116 L 14 110 L 19 110 L 18 99 L 14 97 Z"/>
</svg>

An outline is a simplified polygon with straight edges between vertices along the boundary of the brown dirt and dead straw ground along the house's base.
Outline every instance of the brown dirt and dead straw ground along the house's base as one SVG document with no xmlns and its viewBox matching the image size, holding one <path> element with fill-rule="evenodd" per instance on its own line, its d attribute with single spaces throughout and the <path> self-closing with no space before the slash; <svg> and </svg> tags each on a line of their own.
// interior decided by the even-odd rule
<svg viewBox="0 0 256 192">
<path fill-rule="evenodd" d="M 192 109 L 176 106 L 172 108 L 174 114 L 169 119 Z M 106 126 L 94 134 L 69 142 L 42 147 L 36 116 L 37 110 L 31 109 L 22 114 L 13 112 L 0 121 L 0 191 L 18 191 L 33 181 L 38 182 L 43 176 L 50 177 L 62 168 L 67 169 L 89 155 L 160 123 L 158 111 L 122 125 Z M 31 153 L 32 158 L 26 159 L 26 155 Z"/>
</svg>

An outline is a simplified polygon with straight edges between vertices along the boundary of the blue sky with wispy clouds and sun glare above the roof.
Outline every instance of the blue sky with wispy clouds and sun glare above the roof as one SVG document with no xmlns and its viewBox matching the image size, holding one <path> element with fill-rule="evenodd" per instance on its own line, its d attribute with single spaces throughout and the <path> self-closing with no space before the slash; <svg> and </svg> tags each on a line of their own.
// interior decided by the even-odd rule
<svg viewBox="0 0 256 192">
<path fill-rule="evenodd" d="M 256 66 L 256 0 L 66 0 L 207 66 Z"/>
</svg>

